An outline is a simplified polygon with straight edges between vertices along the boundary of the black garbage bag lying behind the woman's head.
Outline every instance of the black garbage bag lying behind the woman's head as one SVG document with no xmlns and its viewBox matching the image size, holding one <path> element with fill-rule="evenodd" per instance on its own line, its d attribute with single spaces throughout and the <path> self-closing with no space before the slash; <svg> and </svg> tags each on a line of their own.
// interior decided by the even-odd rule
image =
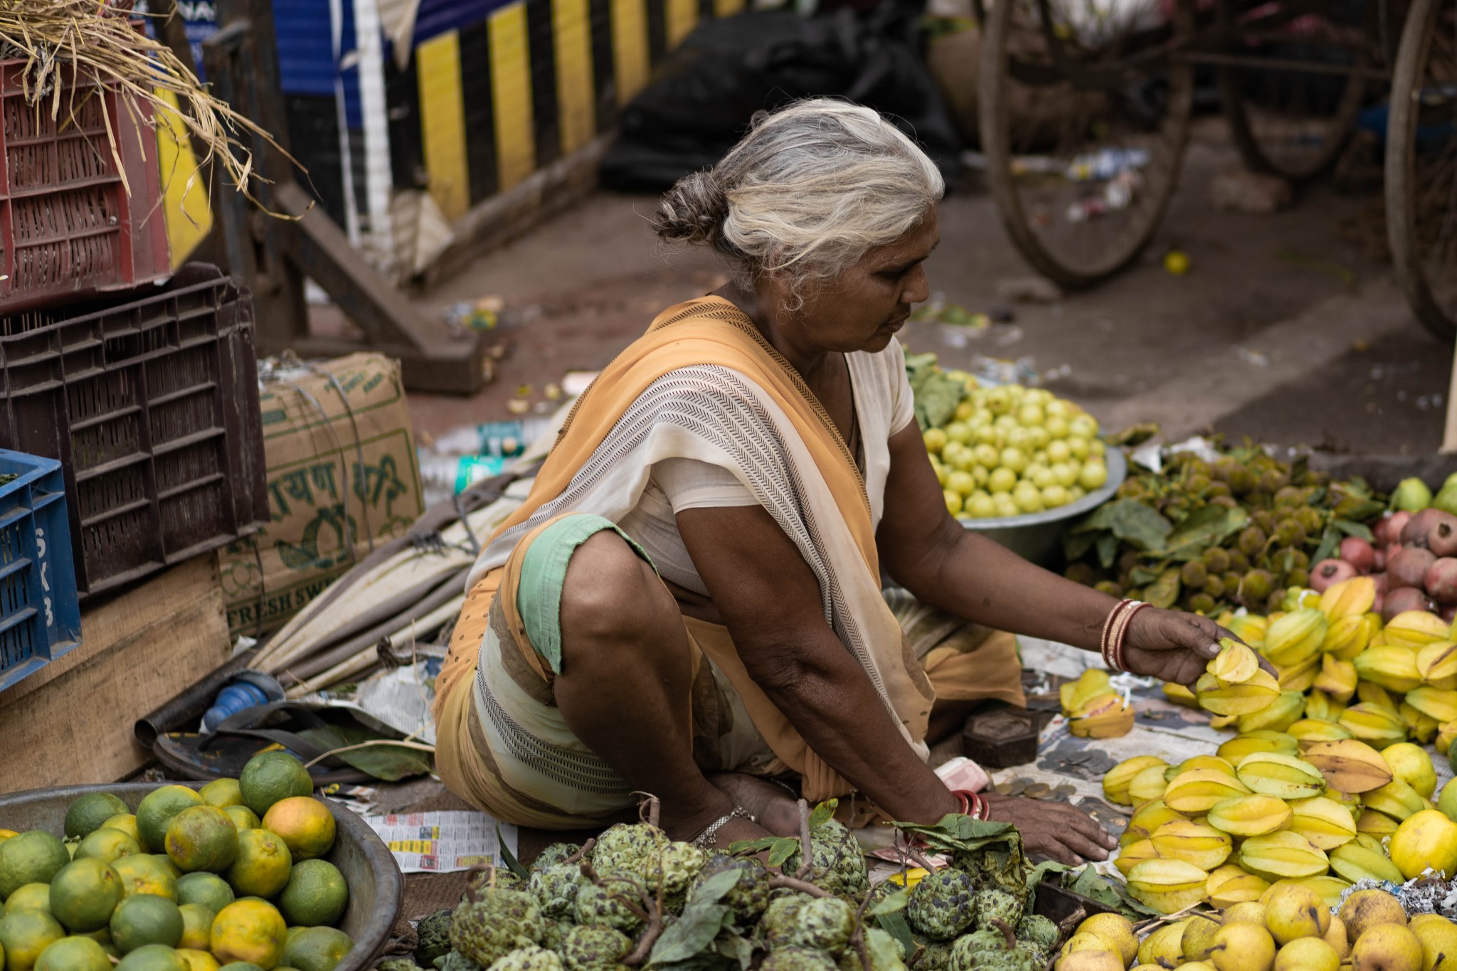
<svg viewBox="0 0 1457 971">
<path fill-rule="evenodd" d="M 895 119 L 941 170 L 957 175 L 960 140 L 921 57 L 921 3 L 814 17 L 750 12 L 707 20 L 622 111 L 602 183 L 663 191 L 718 162 L 756 111 L 798 98 L 847 98 Z"/>
</svg>

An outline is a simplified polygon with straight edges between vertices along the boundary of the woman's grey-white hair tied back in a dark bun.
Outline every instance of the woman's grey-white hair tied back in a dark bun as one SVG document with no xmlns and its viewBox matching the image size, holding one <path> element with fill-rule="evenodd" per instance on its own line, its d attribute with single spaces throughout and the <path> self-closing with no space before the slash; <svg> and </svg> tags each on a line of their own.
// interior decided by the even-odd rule
<svg viewBox="0 0 1457 971">
<path fill-rule="evenodd" d="M 921 224 L 946 191 L 914 141 L 861 105 L 816 98 L 758 112 L 712 169 L 683 176 L 653 227 L 664 240 L 711 246 L 742 285 L 838 277 L 870 249 Z"/>
</svg>

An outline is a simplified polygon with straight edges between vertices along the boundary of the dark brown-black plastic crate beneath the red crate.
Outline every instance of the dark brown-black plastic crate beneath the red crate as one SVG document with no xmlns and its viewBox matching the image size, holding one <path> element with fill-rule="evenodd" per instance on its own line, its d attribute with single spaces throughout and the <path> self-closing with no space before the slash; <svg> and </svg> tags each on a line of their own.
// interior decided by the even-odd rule
<svg viewBox="0 0 1457 971">
<path fill-rule="evenodd" d="M 98 594 L 268 518 L 252 298 L 216 266 L 0 317 L 0 447 L 60 459 Z"/>
</svg>

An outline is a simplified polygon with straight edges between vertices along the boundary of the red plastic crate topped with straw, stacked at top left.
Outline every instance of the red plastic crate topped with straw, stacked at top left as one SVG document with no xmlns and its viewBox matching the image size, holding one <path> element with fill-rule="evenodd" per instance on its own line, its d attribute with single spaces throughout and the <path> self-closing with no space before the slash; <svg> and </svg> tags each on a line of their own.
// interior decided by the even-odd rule
<svg viewBox="0 0 1457 971">
<path fill-rule="evenodd" d="M 28 102 L 25 61 L 0 61 L 0 313 L 172 272 L 150 105 L 70 66 L 52 77 L 55 118 L 54 93 Z"/>
</svg>

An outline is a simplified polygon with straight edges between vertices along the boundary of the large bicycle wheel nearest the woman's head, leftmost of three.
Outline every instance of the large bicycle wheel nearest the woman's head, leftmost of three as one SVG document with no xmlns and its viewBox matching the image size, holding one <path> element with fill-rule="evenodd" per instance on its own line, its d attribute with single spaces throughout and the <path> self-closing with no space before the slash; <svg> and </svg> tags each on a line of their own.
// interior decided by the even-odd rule
<svg viewBox="0 0 1457 971">
<path fill-rule="evenodd" d="M 1171 9 L 1171 13 L 1169 10 Z M 1064 287 L 1122 268 L 1179 181 L 1186 0 L 1001 0 L 982 38 L 986 178 L 1021 255 Z"/>
</svg>

